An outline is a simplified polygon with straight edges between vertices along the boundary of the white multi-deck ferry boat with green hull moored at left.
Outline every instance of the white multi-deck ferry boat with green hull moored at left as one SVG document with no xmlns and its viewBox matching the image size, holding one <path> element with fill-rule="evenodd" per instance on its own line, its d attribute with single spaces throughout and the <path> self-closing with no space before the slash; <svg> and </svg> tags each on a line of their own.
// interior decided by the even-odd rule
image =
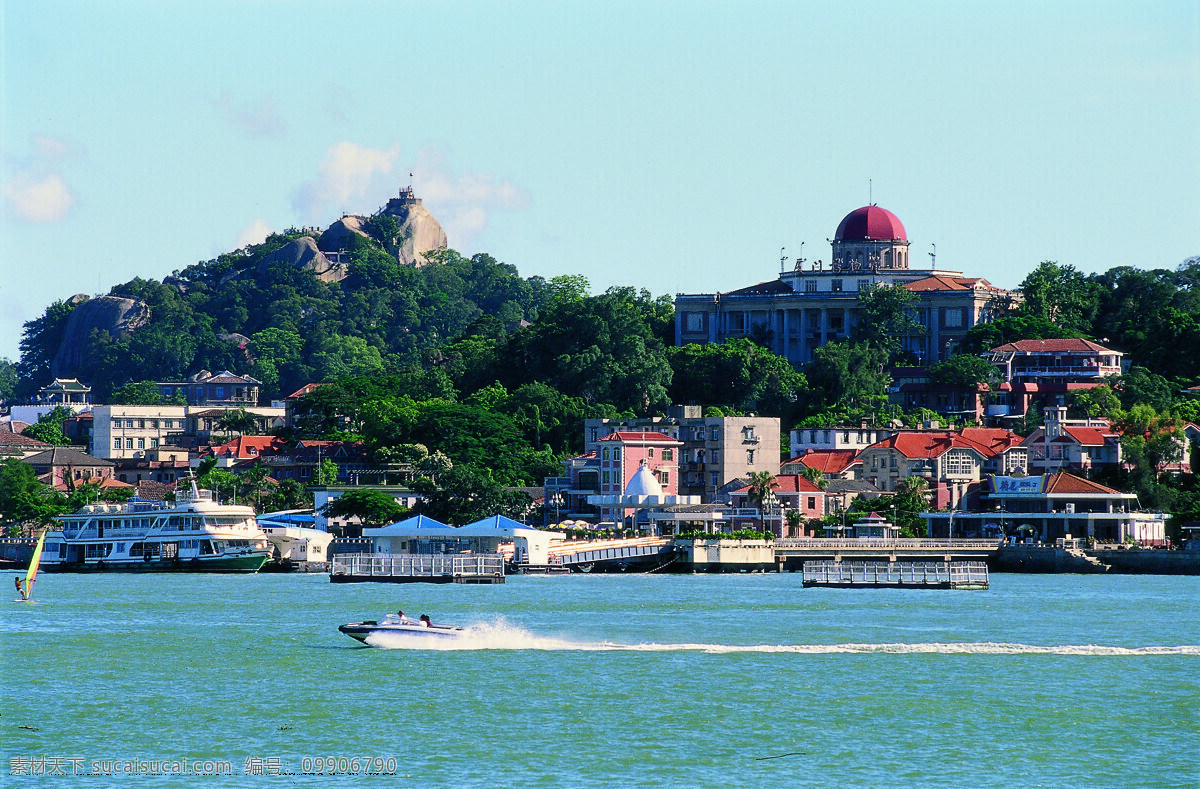
<svg viewBox="0 0 1200 789">
<path fill-rule="evenodd" d="M 257 572 L 271 558 L 254 510 L 181 488 L 175 502 L 94 504 L 55 518 L 47 572 Z"/>
</svg>

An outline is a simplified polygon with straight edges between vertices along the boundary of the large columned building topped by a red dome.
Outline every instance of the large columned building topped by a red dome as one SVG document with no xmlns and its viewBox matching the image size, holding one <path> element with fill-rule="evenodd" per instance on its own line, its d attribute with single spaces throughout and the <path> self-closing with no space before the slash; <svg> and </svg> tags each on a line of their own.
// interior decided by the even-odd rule
<svg viewBox="0 0 1200 789">
<path fill-rule="evenodd" d="M 900 219 L 877 205 L 851 211 L 838 225 L 830 264 L 803 258 L 778 279 L 722 294 L 676 296 L 676 344 L 752 337 L 793 363 L 851 335 L 858 294 L 877 284 L 904 285 L 917 296 L 913 317 L 925 331 L 904 348 L 931 365 L 946 360 L 968 329 L 986 323 L 1015 294 L 961 271 L 910 269 L 908 236 Z"/>
</svg>

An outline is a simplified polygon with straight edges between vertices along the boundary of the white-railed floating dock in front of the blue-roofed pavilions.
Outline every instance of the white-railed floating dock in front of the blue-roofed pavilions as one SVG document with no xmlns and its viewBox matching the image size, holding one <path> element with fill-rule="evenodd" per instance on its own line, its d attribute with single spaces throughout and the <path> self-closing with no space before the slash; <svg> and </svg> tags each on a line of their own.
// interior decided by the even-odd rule
<svg viewBox="0 0 1200 789">
<path fill-rule="evenodd" d="M 329 580 L 388 584 L 503 584 L 500 554 L 335 554 Z"/>
</svg>

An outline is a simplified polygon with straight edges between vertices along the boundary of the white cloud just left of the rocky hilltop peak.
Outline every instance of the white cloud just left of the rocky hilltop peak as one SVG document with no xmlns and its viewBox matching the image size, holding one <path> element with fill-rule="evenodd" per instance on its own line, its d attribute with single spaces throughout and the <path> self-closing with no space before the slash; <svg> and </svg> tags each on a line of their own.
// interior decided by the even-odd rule
<svg viewBox="0 0 1200 789">
<path fill-rule="evenodd" d="M 386 150 L 344 140 L 330 145 L 317 167 L 317 177 L 296 189 L 292 205 L 304 221 L 317 223 L 343 211 L 373 212 L 400 189 L 391 177 L 400 150 L 398 143 Z"/>
</svg>

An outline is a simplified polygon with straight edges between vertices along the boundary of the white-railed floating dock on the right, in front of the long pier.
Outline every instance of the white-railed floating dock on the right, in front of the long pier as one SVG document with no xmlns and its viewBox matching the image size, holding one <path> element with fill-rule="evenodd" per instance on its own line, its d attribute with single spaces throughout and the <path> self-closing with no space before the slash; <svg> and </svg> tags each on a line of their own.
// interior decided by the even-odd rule
<svg viewBox="0 0 1200 789">
<path fill-rule="evenodd" d="M 803 585 L 830 589 L 988 589 L 982 561 L 806 561 Z"/>
</svg>

